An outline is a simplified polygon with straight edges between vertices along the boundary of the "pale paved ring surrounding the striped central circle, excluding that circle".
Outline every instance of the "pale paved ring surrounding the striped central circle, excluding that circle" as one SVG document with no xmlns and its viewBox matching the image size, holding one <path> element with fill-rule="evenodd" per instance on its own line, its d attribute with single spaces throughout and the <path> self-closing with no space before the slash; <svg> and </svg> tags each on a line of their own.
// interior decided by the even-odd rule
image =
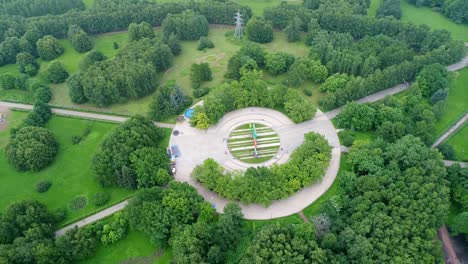
<svg viewBox="0 0 468 264">
<path fill-rule="evenodd" d="M 248 164 L 235 159 L 227 148 L 227 138 L 230 132 L 242 124 L 260 123 L 275 130 L 281 142 L 276 157 L 260 164 Z M 340 142 L 335 128 L 325 114 L 317 111 L 314 119 L 300 124 L 294 124 L 284 114 L 266 108 L 249 107 L 224 115 L 216 126 L 208 130 L 198 130 L 190 126 L 188 121 L 176 124 L 178 136 L 171 136 L 170 145 L 177 145 L 180 157 L 177 158 L 177 173 L 175 179 L 188 182 L 209 202 L 215 205 L 216 211 L 222 212 L 230 202 L 216 193 L 205 189 L 190 177 L 196 165 L 208 158 L 215 159 L 228 170 L 245 170 L 251 166 L 270 166 L 274 163 L 285 163 L 291 152 L 304 141 L 304 134 L 310 131 L 322 134 L 332 146 L 330 165 L 322 181 L 304 188 L 289 198 L 272 202 L 269 207 L 259 204 L 242 204 L 246 219 L 271 219 L 297 213 L 317 200 L 332 185 L 340 166 Z"/>
</svg>

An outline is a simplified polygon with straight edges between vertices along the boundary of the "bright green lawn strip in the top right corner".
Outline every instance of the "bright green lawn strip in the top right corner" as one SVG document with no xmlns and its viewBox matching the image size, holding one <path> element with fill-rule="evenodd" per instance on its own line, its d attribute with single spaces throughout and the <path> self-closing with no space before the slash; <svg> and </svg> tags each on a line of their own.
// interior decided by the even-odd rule
<svg viewBox="0 0 468 264">
<path fill-rule="evenodd" d="M 372 2 L 376 1 L 380 0 L 372 0 Z M 416 7 L 406 0 L 401 1 L 401 9 L 403 12 L 401 20 L 403 21 L 426 24 L 432 29 L 446 29 L 452 33 L 454 39 L 468 42 L 468 25 L 457 24 L 429 7 Z"/>
</svg>

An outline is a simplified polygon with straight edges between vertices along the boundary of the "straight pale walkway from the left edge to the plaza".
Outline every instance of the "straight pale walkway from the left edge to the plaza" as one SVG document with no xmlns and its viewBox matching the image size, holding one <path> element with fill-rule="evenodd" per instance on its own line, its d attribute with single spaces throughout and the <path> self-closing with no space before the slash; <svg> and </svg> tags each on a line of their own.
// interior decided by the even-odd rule
<svg viewBox="0 0 468 264">
<path fill-rule="evenodd" d="M 10 103 L 10 102 L 3 102 L 0 101 L 0 106 L 13 108 L 13 109 L 22 109 L 22 110 L 32 110 L 33 106 L 29 104 L 19 104 L 19 103 Z M 93 119 L 93 120 L 102 120 L 108 122 L 116 122 L 122 123 L 125 122 L 128 117 L 123 116 L 116 116 L 116 115 L 107 115 L 107 114 L 98 114 L 98 113 L 91 113 L 91 112 L 81 112 L 75 110 L 67 110 L 61 108 L 51 108 L 52 113 L 61 115 L 61 116 L 71 116 L 71 117 L 79 117 L 85 119 Z M 167 123 L 160 123 L 154 122 L 156 126 L 164 127 L 164 128 L 174 128 L 174 124 L 167 124 Z"/>
</svg>

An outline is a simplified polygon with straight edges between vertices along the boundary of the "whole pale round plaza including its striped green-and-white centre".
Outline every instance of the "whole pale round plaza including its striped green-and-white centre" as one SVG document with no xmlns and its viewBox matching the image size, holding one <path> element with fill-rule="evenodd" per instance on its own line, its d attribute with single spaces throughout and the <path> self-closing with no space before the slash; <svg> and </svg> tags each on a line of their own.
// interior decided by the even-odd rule
<svg viewBox="0 0 468 264">
<path fill-rule="evenodd" d="M 252 151 L 250 124 L 255 124 L 258 130 L 258 142 L 261 142 L 261 139 L 265 140 L 261 145 L 266 151 L 260 152 L 260 148 L 257 158 Z M 187 119 L 176 124 L 174 130 L 179 131 L 179 134 L 171 136 L 170 145 L 177 146 L 180 152 L 176 160 L 175 179 L 194 186 L 218 212 L 222 212 L 230 201 L 204 188 L 191 177 L 193 169 L 206 159 L 214 159 L 226 171 L 244 171 L 249 167 L 269 167 L 288 162 L 291 153 L 304 142 L 304 134 L 308 132 L 318 133 L 328 141 L 331 146 L 331 159 L 321 181 L 288 198 L 275 200 L 268 207 L 238 202 L 246 219 L 278 218 L 301 211 L 328 190 L 339 169 L 341 152 L 338 135 L 331 121 L 320 111 L 317 111 L 312 120 L 295 124 L 278 111 L 249 107 L 227 113 L 218 124 L 207 130 L 191 127 Z M 242 143 L 235 143 L 239 141 Z M 258 142 L 257 146 L 260 147 Z"/>
</svg>

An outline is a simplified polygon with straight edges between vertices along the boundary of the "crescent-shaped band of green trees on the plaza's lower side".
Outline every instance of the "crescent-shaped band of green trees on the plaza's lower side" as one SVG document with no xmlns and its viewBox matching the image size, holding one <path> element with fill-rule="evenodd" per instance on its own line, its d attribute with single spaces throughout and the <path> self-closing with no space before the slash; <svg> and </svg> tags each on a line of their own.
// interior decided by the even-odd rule
<svg viewBox="0 0 468 264">
<path fill-rule="evenodd" d="M 315 133 L 304 135 L 305 142 L 283 165 L 249 168 L 242 175 L 226 172 L 213 159 L 207 159 L 192 172 L 206 188 L 229 200 L 269 205 L 322 179 L 331 157 L 326 139 Z"/>
</svg>

